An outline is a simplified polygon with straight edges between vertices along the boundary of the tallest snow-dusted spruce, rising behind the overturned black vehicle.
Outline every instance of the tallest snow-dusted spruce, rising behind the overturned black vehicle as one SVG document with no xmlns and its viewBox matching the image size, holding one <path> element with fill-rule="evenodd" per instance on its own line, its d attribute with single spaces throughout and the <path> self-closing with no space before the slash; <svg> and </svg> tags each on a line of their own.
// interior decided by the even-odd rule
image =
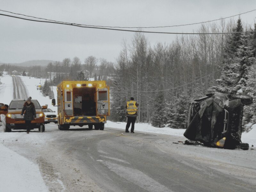
<svg viewBox="0 0 256 192">
<path fill-rule="evenodd" d="M 240 18 L 234 31 L 243 31 Z M 232 94 L 242 93 L 241 89 L 245 89 L 249 68 L 252 65 L 251 55 L 252 47 L 248 46 L 248 35 L 232 34 L 227 44 L 220 79 L 216 80 L 218 86 L 210 90 Z"/>
</svg>

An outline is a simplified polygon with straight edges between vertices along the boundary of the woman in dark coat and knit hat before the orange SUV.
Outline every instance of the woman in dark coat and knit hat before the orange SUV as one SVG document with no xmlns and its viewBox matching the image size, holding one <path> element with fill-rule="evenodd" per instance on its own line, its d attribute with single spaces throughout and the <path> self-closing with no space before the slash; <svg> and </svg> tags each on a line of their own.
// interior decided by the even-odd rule
<svg viewBox="0 0 256 192">
<path fill-rule="evenodd" d="M 31 127 L 31 121 L 36 118 L 36 108 L 34 103 L 31 102 L 31 97 L 29 97 L 23 105 L 21 115 L 23 116 L 23 114 L 24 114 L 23 119 L 25 120 L 27 133 L 29 133 L 30 127 Z"/>
</svg>

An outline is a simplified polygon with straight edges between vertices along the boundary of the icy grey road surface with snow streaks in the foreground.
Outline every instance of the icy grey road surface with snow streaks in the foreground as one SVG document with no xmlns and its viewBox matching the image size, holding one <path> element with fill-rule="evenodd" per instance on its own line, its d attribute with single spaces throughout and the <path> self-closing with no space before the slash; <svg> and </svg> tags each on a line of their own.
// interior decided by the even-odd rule
<svg viewBox="0 0 256 192">
<path fill-rule="evenodd" d="M 39 165 L 49 191 L 256 191 L 254 150 L 175 144 L 184 137 L 74 127 L 1 133 Z M 4 141 L 3 141 L 4 140 Z M 17 141 L 16 141 L 17 140 Z M 15 182 L 15 181 L 13 181 Z"/>
</svg>

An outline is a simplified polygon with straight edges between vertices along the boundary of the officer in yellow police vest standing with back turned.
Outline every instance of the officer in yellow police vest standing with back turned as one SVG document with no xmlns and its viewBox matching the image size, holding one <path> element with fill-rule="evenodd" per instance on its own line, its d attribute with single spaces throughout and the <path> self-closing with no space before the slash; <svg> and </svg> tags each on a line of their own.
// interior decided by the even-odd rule
<svg viewBox="0 0 256 192">
<path fill-rule="evenodd" d="M 127 124 L 126 124 L 126 129 L 125 132 L 129 133 L 129 127 L 132 123 L 132 128 L 131 128 L 131 133 L 134 133 L 134 124 L 136 121 L 136 117 L 138 115 L 138 106 L 139 104 L 134 101 L 134 98 L 131 97 L 130 101 L 127 101 L 126 103 L 126 116 L 127 116 Z"/>
</svg>

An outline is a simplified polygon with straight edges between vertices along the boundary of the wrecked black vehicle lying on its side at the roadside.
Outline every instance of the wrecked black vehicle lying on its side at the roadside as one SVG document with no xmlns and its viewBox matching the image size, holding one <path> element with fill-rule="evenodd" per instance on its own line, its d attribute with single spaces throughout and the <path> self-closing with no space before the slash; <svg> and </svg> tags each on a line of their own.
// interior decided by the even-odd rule
<svg viewBox="0 0 256 192">
<path fill-rule="evenodd" d="M 244 105 L 252 104 L 250 95 L 210 93 L 189 103 L 184 136 L 205 146 L 249 149 L 241 142 Z"/>
</svg>

